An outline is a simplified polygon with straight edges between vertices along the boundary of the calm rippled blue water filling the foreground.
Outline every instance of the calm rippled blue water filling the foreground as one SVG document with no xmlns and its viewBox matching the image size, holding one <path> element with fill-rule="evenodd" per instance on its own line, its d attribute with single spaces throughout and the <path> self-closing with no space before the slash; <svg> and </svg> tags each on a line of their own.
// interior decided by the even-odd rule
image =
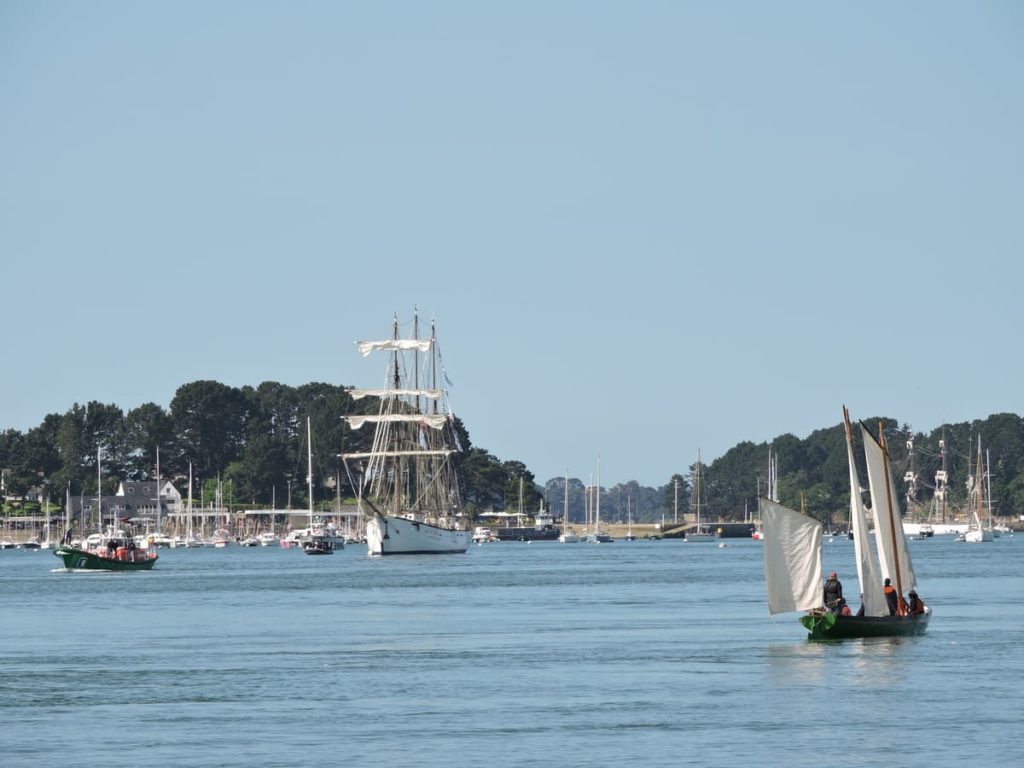
<svg viewBox="0 0 1024 768">
<path fill-rule="evenodd" d="M 912 542 L 928 634 L 834 644 L 727 544 L 0 551 L 0 765 L 1024 764 L 1024 536 Z"/>
</svg>

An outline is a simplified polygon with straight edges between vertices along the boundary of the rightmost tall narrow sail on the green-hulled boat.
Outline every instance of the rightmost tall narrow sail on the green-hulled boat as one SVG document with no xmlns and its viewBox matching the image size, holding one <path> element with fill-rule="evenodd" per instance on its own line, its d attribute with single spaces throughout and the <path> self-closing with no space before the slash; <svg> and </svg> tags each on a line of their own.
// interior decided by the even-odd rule
<svg viewBox="0 0 1024 768">
<path fill-rule="evenodd" d="M 910 562 L 910 550 L 903 535 L 903 520 L 893 501 L 896 487 L 888 455 L 867 427 L 860 425 L 867 463 L 867 482 L 871 488 L 871 511 L 874 515 L 874 544 L 879 550 L 883 579 L 891 579 L 893 587 L 906 592 L 918 584 Z M 899 573 L 896 564 L 899 563 Z"/>
</svg>

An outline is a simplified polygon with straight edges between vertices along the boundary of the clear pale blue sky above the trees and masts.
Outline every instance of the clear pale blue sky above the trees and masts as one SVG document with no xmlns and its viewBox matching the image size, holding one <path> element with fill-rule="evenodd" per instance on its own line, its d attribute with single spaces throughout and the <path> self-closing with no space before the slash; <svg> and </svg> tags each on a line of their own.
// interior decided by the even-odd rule
<svg viewBox="0 0 1024 768">
<path fill-rule="evenodd" d="M 0 429 L 376 385 L 658 485 L 1019 412 L 1024 4 L 0 2 Z"/>
</svg>

